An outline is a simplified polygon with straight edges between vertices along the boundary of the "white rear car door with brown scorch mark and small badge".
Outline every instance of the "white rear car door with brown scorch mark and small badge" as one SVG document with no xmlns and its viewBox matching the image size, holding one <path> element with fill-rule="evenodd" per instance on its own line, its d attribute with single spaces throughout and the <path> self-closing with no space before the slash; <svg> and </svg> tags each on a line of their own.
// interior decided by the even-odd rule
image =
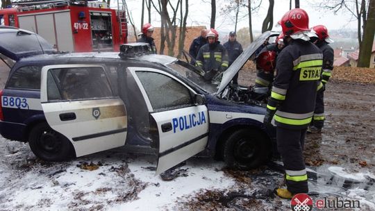
<svg viewBox="0 0 375 211">
<path fill-rule="evenodd" d="M 103 65 L 43 67 L 40 101 L 49 126 L 72 142 L 77 157 L 125 144 L 126 107 Z"/>
</svg>

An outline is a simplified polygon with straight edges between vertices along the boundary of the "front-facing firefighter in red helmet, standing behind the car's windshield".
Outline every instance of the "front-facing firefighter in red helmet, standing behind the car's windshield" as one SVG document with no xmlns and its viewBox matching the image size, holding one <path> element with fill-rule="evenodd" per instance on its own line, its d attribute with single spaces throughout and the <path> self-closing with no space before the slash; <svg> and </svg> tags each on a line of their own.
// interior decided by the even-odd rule
<svg viewBox="0 0 375 211">
<path fill-rule="evenodd" d="M 206 38 L 208 43 L 199 49 L 196 65 L 203 69 L 205 80 L 211 81 L 228 68 L 228 55 L 214 28 L 208 31 Z"/>
</svg>

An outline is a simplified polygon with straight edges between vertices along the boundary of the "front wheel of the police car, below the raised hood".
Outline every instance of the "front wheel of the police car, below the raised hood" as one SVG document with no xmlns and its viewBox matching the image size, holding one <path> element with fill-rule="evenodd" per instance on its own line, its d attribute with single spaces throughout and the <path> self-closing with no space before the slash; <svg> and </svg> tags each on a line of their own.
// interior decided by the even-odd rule
<svg viewBox="0 0 375 211">
<path fill-rule="evenodd" d="M 259 130 L 236 130 L 224 142 L 224 162 L 231 169 L 254 169 L 268 160 L 269 147 L 267 137 Z"/>
</svg>

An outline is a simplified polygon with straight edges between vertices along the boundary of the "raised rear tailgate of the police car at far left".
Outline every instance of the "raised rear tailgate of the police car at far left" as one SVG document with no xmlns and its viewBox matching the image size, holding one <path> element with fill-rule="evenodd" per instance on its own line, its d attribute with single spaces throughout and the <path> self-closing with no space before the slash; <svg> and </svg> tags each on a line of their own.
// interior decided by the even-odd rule
<svg viewBox="0 0 375 211">
<path fill-rule="evenodd" d="M 53 53 L 54 49 L 47 40 L 31 31 L 20 28 L 0 26 L 0 53 L 12 60 Z"/>
</svg>

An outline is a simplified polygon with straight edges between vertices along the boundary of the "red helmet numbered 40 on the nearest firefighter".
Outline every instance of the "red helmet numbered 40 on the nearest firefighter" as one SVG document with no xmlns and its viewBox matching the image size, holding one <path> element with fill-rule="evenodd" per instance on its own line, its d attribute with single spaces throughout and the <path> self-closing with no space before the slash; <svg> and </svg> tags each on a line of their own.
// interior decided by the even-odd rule
<svg viewBox="0 0 375 211">
<path fill-rule="evenodd" d="M 294 8 L 285 13 L 278 22 L 283 28 L 284 35 L 292 35 L 299 31 L 308 31 L 308 15 L 301 8 Z"/>
</svg>

